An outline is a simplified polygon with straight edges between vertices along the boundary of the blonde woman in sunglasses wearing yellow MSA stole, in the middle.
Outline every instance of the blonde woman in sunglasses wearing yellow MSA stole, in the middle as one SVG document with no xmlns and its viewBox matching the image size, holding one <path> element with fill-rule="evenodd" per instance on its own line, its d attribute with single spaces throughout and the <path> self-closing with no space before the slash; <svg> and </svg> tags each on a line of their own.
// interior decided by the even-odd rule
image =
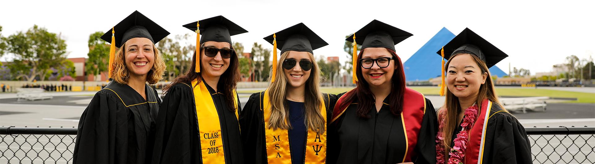
<svg viewBox="0 0 595 164">
<path fill-rule="evenodd" d="M 328 45 L 303 23 L 264 38 L 281 47 L 271 84 L 240 113 L 246 163 L 325 163 L 327 109 L 336 96 L 320 92 L 314 49 Z"/>
</svg>

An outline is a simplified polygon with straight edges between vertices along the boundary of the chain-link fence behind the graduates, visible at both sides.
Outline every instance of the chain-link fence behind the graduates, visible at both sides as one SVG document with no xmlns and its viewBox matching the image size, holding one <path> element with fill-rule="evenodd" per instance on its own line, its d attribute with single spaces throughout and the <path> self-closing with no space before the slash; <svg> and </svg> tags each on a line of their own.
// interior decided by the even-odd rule
<svg viewBox="0 0 595 164">
<path fill-rule="evenodd" d="M 73 163 L 76 128 L 0 127 L 0 163 Z M 595 128 L 525 128 L 533 163 L 595 163 Z"/>
</svg>

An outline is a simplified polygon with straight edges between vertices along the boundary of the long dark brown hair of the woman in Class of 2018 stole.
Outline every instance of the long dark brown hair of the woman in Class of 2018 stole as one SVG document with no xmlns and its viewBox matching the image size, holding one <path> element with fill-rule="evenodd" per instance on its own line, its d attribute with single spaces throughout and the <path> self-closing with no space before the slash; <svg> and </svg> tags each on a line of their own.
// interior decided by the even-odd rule
<svg viewBox="0 0 595 164">
<path fill-rule="evenodd" d="M 200 46 L 203 46 L 203 44 L 201 44 Z M 230 49 L 233 49 L 233 46 L 231 46 L 230 44 Z M 204 54 L 203 51 L 201 51 L 201 56 L 200 59 L 202 59 L 202 55 Z M 193 80 L 198 80 L 199 82 L 202 80 L 202 72 L 194 72 L 195 68 L 196 68 L 196 51 L 194 52 L 194 54 L 192 55 L 192 64 L 190 64 L 190 69 L 188 69 L 188 71 L 186 71 L 186 73 L 179 75 L 178 77 L 176 77 L 176 79 L 174 79 L 173 81 L 171 81 L 171 83 L 167 86 L 164 87 L 163 89 L 163 93 L 167 94 L 167 92 L 171 89 L 172 86 L 178 84 L 178 83 L 192 83 Z M 201 64 L 201 70 L 203 69 L 203 65 Z M 230 58 L 230 65 L 227 68 L 227 70 L 225 72 L 223 72 L 223 74 L 221 75 L 221 78 L 219 78 L 219 83 L 217 83 L 217 90 L 221 91 L 221 93 L 223 93 L 223 95 L 225 96 L 226 99 L 226 103 L 227 106 L 229 107 L 229 110 L 231 112 L 235 112 L 236 109 L 234 108 L 234 94 L 233 91 L 236 90 L 236 84 L 238 81 L 240 81 L 240 72 L 238 70 L 239 67 L 239 62 L 237 59 L 237 55 L 235 53 L 235 51 L 233 51 L 233 54 L 231 55 Z M 198 85 L 198 83 L 196 83 Z M 195 86 L 196 87 L 196 86 Z"/>
</svg>

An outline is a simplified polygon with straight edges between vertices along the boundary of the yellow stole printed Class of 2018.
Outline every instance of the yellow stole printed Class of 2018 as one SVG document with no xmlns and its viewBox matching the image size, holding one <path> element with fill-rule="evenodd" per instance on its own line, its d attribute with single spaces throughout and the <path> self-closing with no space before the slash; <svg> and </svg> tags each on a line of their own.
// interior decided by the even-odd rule
<svg viewBox="0 0 595 164">
<path fill-rule="evenodd" d="M 199 138 L 201 138 L 202 163 L 225 163 L 223 141 L 221 140 L 221 125 L 215 102 L 206 84 L 197 80 L 192 81 L 194 102 L 196 105 L 196 118 L 198 118 Z M 237 93 L 234 91 L 234 107 L 237 110 Z M 237 112 L 236 119 L 237 119 Z"/>
</svg>

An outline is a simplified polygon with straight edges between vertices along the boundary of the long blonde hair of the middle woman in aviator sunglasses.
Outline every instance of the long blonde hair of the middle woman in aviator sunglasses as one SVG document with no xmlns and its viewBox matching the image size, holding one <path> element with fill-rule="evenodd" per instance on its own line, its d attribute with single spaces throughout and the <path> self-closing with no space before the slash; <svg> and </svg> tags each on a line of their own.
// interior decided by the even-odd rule
<svg viewBox="0 0 595 164">
<path fill-rule="evenodd" d="M 273 128 L 273 130 L 276 130 L 277 128 L 289 130 L 292 128 L 290 122 L 287 121 L 289 120 L 289 106 L 285 100 L 287 91 L 287 77 L 283 71 L 282 64 L 282 62 L 287 59 L 287 55 L 289 55 L 289 51 L 283 52 L 283 54 L 281 54 L 281 58 L 278 62 L 279 64 L 277 64 L 277 73 L 274 74 L 275 81 L 271 83 L 267 89 L 271 102 L 271 117 L 268 120 L 270 124 L 268 124 L 267 128 Z M 320 105 L 322 103 L 322 93 L 320 92 L 320 68 L 314 61 L 314 55 L 310 52 L 308 52 L 308 55 L 310 56 L 314 67 L 311 69 L 310 77 L 308 77 L 308 80 L 306 80 L 304 96 L 306 118 L 304 119 L 304 124 L 306 125 L 306 128 L 322 134 L 324 133 L 324 125 L 326 122 L 324 122 L 324 118 L 320 112 Z M 273 74 L 271 74 L 271 76 L 272 75 Z"/>
</svg>

